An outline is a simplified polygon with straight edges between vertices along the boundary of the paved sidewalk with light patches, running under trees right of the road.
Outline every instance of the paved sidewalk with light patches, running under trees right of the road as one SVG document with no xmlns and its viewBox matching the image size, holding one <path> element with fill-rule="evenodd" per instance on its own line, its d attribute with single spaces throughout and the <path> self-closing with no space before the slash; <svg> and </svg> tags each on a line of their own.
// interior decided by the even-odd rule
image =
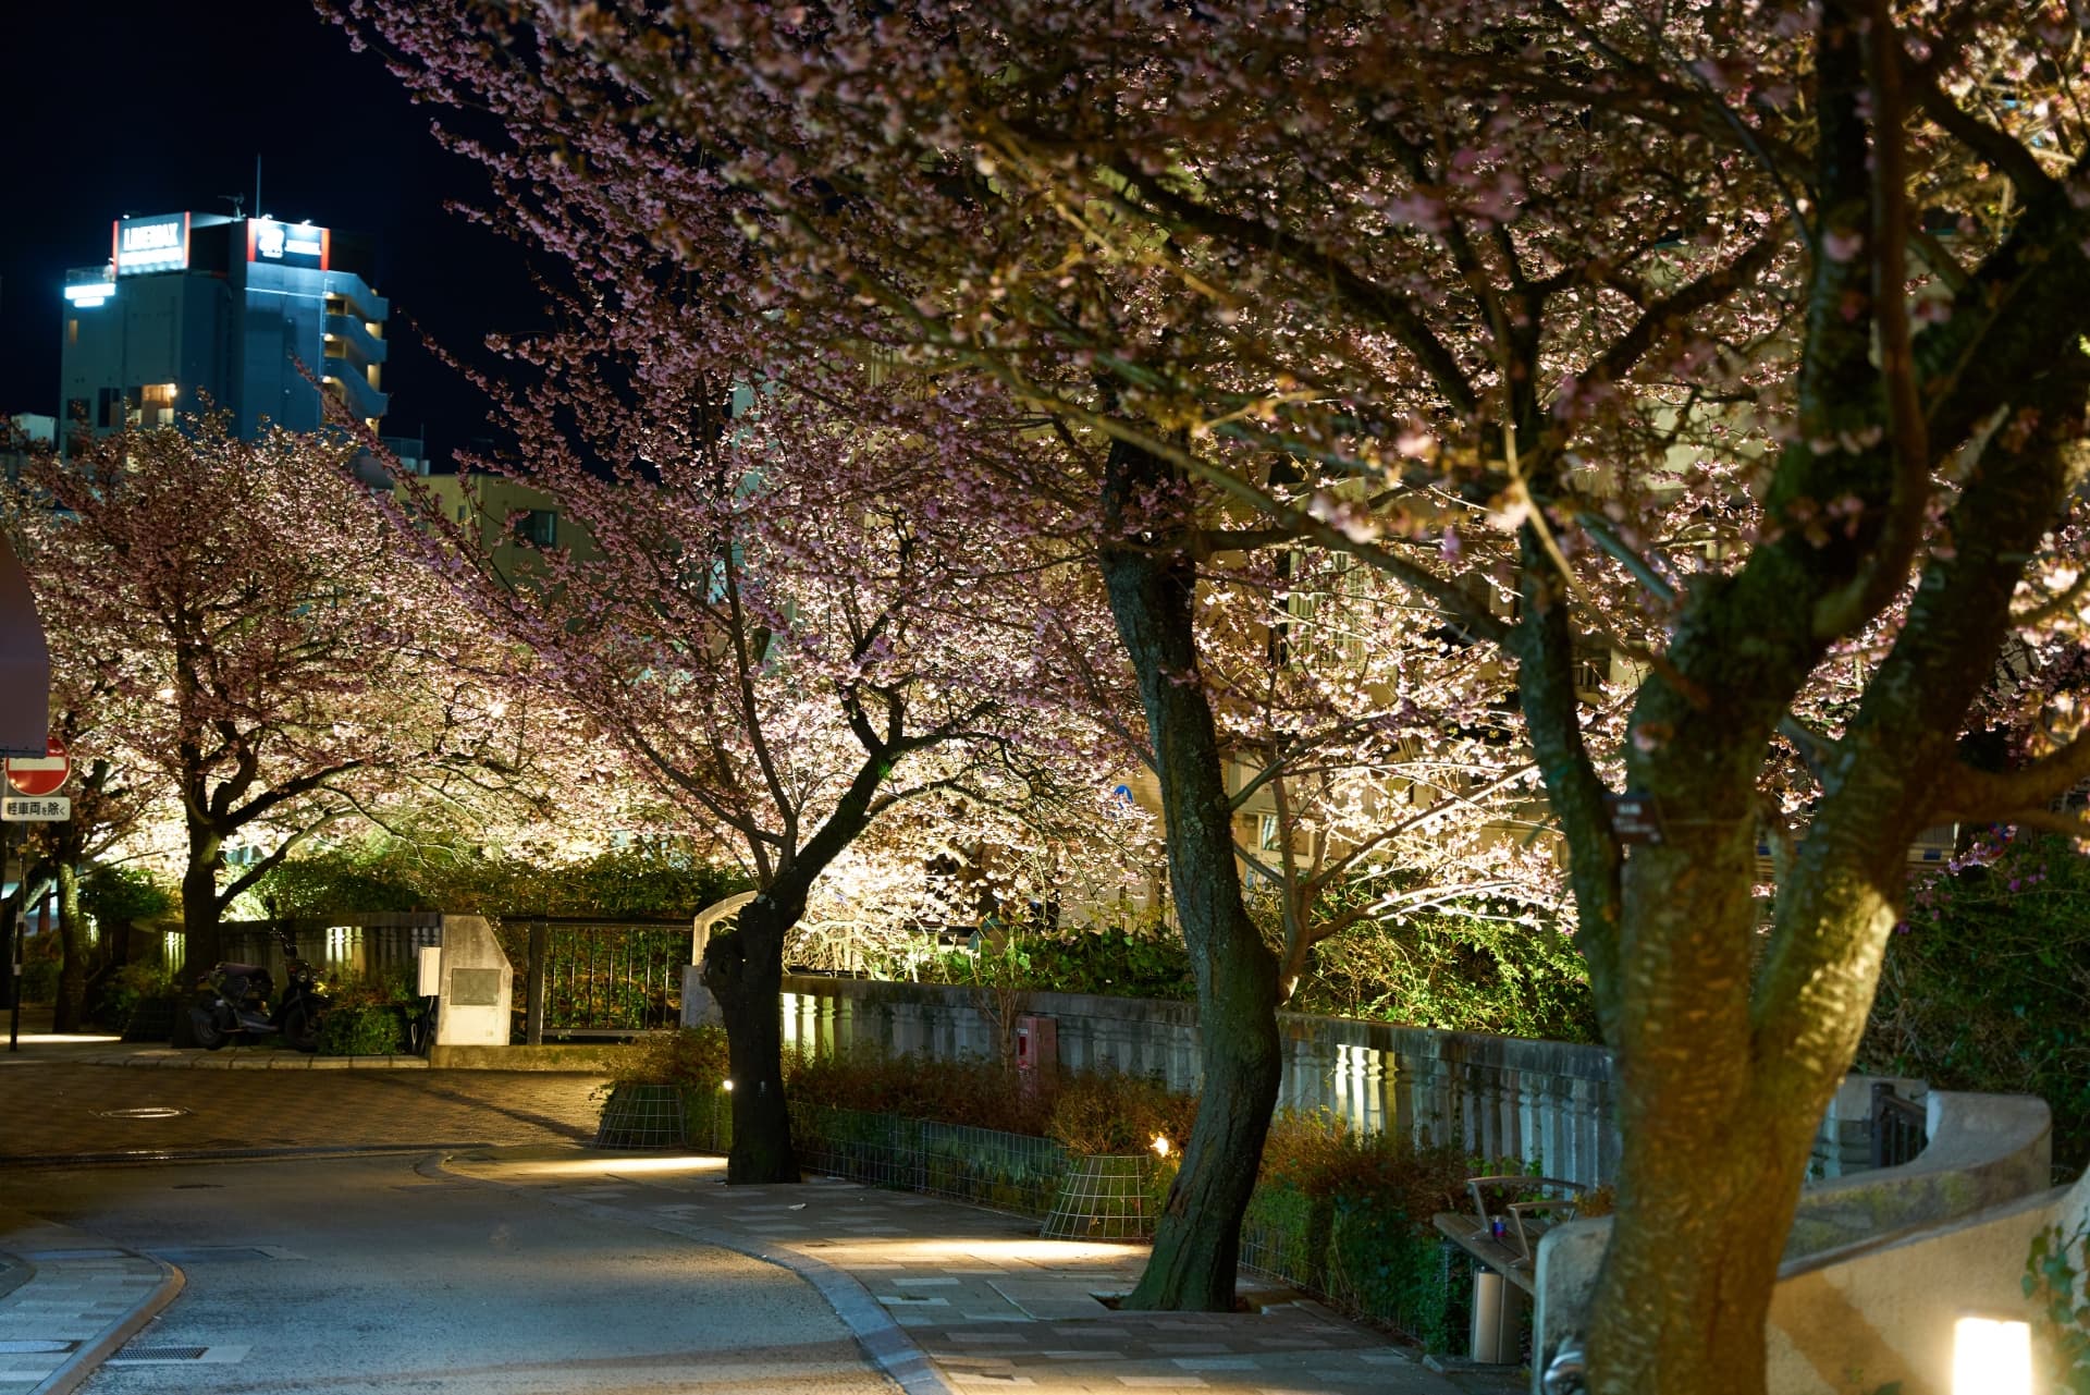
<svg viewBox="0 0 2090 1395">
<path fill-rule="evenodd" d="M 583 1148 L 487 1148 L 443 1167 L 790 1267 L 909 1395 L 1517 1389 L 1507 1372 L 1446 1378 L 1246 1274 L 1246 1313 L 1120 1313 L 1097 1295 L 1131 1290 L 1145 1247 L 1039 1240 L 1035 1221 L 909 1192 L 834 1180 L 727 1188 L 723 1159 Z"/>
</svg>

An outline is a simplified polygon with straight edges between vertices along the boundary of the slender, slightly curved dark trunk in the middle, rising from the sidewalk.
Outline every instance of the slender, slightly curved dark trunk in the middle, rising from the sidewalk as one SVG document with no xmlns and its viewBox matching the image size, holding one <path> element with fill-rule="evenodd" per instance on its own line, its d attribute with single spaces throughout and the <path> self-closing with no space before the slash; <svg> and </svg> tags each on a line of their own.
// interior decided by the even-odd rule
<svg viewBox="0 0 2090 1395">
<path fill-rule="evenodd" d="M 1124 1307 L 1231 1311 L 1241 1215 L 1277 1104 L 1277 960 L 1241 908 L 1225 763 L 1198 684 L 1195 571 L 1170 550 L 1168 527 L 1129 519 L 1166 483 L 1160 460 L 1112 445 L 1101 567 L 1154 742 L 1168 881 L 1198 977 L 1204 1092 L 1154 1255 Z"/>
</svg>

